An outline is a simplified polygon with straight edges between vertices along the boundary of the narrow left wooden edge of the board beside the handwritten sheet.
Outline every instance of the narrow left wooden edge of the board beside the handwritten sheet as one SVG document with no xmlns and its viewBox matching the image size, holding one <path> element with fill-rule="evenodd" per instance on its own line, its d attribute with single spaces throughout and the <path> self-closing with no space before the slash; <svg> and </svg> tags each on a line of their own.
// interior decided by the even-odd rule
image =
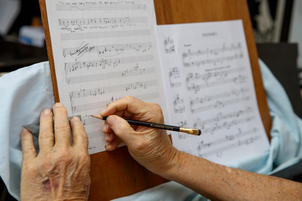
<svg viewBox="0 0 302 201">
<path fill-rule="evenodd" d="M 48 54 L 48 60 L 49 60 L 51 82 L 53 84 L 54 101 L 55 102 L 60 102 L 56 71 L 55 71 L 55 68 L 54 68 L 53 49 L 52 49 L 52 46 L 51 46 L 51 38 L 50 38 L 50 31 L 49 31 L 49 25 L 48 25 L 48 18 L 47 18 L 47 10 L 46 10 L 45 0 L 39 0 L 39 4 L 40 4 L 41 16 L 42 16 L 42 24 L 43 24 L 43 29 L 44 29 L 45 41 L 46 41 L 46 46 L 47 46 L 47 54 Z"/>
</svg>

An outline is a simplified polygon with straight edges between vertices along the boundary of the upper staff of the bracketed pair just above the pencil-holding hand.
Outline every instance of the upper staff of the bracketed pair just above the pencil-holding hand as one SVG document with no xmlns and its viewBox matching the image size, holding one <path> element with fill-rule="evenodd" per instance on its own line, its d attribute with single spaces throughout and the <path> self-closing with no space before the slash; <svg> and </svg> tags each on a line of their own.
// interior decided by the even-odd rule
<svg viewBox="0 0 302 201">
<path fill-rule="evenodd" d="M 115 86 L 108 86 L 108 87 L 100 87 L 95 89 L 81 89 L 79 91 L 72 91 L 69 92 L 70 100 L 72 99 L 79 99 L 81 97 L 86 96 L 97 96 L 103 95 L 104 93 L 112 93 L 117 91 L 128 91 L 128 90 L 136 90 L 140 88 L 147 89 L 150 86 L 157 86 L 157 80 L 148 80 L 143 82 L 133 82 L 129 84 L 120 84 Z"/>
</svg>

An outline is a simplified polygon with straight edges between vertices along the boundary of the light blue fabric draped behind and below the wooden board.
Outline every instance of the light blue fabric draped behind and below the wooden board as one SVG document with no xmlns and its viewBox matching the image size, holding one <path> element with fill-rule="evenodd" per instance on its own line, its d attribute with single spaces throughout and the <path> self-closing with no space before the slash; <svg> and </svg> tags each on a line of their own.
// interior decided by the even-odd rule
<svg viewBox="0 0 302 201">
<path fill-rule="evenodd" d="M 233 164 L 244 170 L 270 174 L 295 164 L 302 156 L 302 121 L 267 66 L 260 69 L 272 117 L 271 149 Z M 41 111 L 54 104 L 48 62 L 38 63 L 0 78 L 0 176 L 8 191 L 20 200 L 21 125 L 38 122 Z M 34 138 L 35 139 L 35 138 Z M 37 148 L 37 140 L 35 139 Z M 101 189 L 100 189 L 101 190 Z M 117 200 L 207 200 L 176 182 L 168 182 Z"/>
</svg>

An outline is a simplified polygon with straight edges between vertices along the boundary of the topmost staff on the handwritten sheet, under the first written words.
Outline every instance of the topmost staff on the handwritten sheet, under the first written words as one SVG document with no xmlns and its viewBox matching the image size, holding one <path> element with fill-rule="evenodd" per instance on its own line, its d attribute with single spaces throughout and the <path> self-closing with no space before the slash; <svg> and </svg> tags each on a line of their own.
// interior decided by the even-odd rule
<svg viewBox="0 0 302 201">
<path fill-rule="evenodd" d="M 57 11 L 80 11 L 80 10 L 146 10 L 146 4 L 85 4 L 85 3 L 66 3 L 56 4 Z"/>
</svg>

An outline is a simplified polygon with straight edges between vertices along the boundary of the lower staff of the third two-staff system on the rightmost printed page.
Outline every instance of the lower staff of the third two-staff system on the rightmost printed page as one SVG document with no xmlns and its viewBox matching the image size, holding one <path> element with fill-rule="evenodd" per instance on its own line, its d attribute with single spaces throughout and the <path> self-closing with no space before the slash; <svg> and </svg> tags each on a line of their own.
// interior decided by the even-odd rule
<svg viewBox="0 0 302 201">
<path fill-rule="evenodd" d="M 249 99 L 250 99 L 250 97 L 246 96 L 246 97 L 242 97 L 242 98 L 230 99 L 230 100 L 225 100 L 225 101 L 217 100 L 214 104 L 210 104 L 208 106 L 191 108 L 191 113 L 199 113 L 201 111 L 211 110 L 211 109 L 221 109 L 225 106 L 229 106 L 229 105 L 236 104 L 239 102 L 247 101 Z"/>
</svg>

